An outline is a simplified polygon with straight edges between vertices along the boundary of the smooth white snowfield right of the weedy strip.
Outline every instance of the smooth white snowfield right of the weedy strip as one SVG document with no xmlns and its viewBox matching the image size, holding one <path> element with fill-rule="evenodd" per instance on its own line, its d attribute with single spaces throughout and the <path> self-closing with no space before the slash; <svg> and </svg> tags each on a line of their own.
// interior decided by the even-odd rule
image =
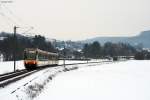
<svg viewBox="0 0 150 100">
<path fill-rule="evenodd" d="M 127 61 L 61 73 L 36 100 L 150 100 L 150 61 Z"/>
</svg>

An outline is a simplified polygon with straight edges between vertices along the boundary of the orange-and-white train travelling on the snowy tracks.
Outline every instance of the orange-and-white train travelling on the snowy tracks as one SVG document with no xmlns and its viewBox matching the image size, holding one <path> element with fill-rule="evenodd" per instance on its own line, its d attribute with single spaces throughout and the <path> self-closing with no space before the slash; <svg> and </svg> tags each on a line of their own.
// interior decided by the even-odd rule
<svg viewBox="0 0 150 100">
<path fill-rule="evenodd" d="M 58 54 L 35 48 L 24 50 L 24 65 L 27 70 L 36 69 L 40 66 L 58 65 Z"/>
</svg>

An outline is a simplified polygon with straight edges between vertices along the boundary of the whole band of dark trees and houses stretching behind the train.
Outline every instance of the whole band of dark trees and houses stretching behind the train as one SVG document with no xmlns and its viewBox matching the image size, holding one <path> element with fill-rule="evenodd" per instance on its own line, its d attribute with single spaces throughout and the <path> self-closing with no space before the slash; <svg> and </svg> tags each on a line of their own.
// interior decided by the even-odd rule
<svg viewBox="0 0 150 100">
<path fill-rule="evenodd" d="M 17 60 L 23 59 L 25 48 L 39 48 L 49 52 L 57 52 L 60 55 L 60 59 L 63 59 L 64 55 L 66 59 L 99 59 L 114 56 L 135 56 L 135 59 L 138 60 L 150 59 L 149 51 L 142 51 L 141 46 L 135 47 L 129 43 L 106 42 L 101 44 L 99 41 L 94 41 L 84 44 L 72 41 L 51 41 L 41 35 L 26 37 L 17 34 L 17 48 L 15 49 L 17 52 Z M 13 60 L 13 50 L 13 34 L 0 33 L 0 55 L 3 56 L 3 60 Z"/>
</svg>

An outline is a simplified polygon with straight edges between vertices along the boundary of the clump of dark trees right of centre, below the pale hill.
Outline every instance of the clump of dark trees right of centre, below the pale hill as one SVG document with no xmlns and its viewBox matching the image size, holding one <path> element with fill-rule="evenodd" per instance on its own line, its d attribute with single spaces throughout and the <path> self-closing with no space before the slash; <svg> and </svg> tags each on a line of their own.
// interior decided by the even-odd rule
<svg viewBox="0 0 150 100">
<path fill-rule="evenodd" d="M 97 41 L 85 44 L 82 51 L 85 58 L 95 59 L 106 56 L 134 56 L 136 53 L 136 49 L 130 44 L 106 42 L 101 46 Z"/>
</svg>

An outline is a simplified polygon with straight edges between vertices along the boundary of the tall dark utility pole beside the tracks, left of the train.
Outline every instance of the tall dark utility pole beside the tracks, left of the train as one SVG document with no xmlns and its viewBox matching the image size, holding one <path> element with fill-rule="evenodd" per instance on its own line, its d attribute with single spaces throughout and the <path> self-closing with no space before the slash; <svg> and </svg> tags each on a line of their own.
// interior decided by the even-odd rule
<svg viewBox="0 0 150 100">
<path fill-rule="evenodd" d="M 14 26 L 14 72 L 16 71 L 16 49 L 17 49 L 17 36 L 16 30 L 19 27 Z"/>
</svg>

